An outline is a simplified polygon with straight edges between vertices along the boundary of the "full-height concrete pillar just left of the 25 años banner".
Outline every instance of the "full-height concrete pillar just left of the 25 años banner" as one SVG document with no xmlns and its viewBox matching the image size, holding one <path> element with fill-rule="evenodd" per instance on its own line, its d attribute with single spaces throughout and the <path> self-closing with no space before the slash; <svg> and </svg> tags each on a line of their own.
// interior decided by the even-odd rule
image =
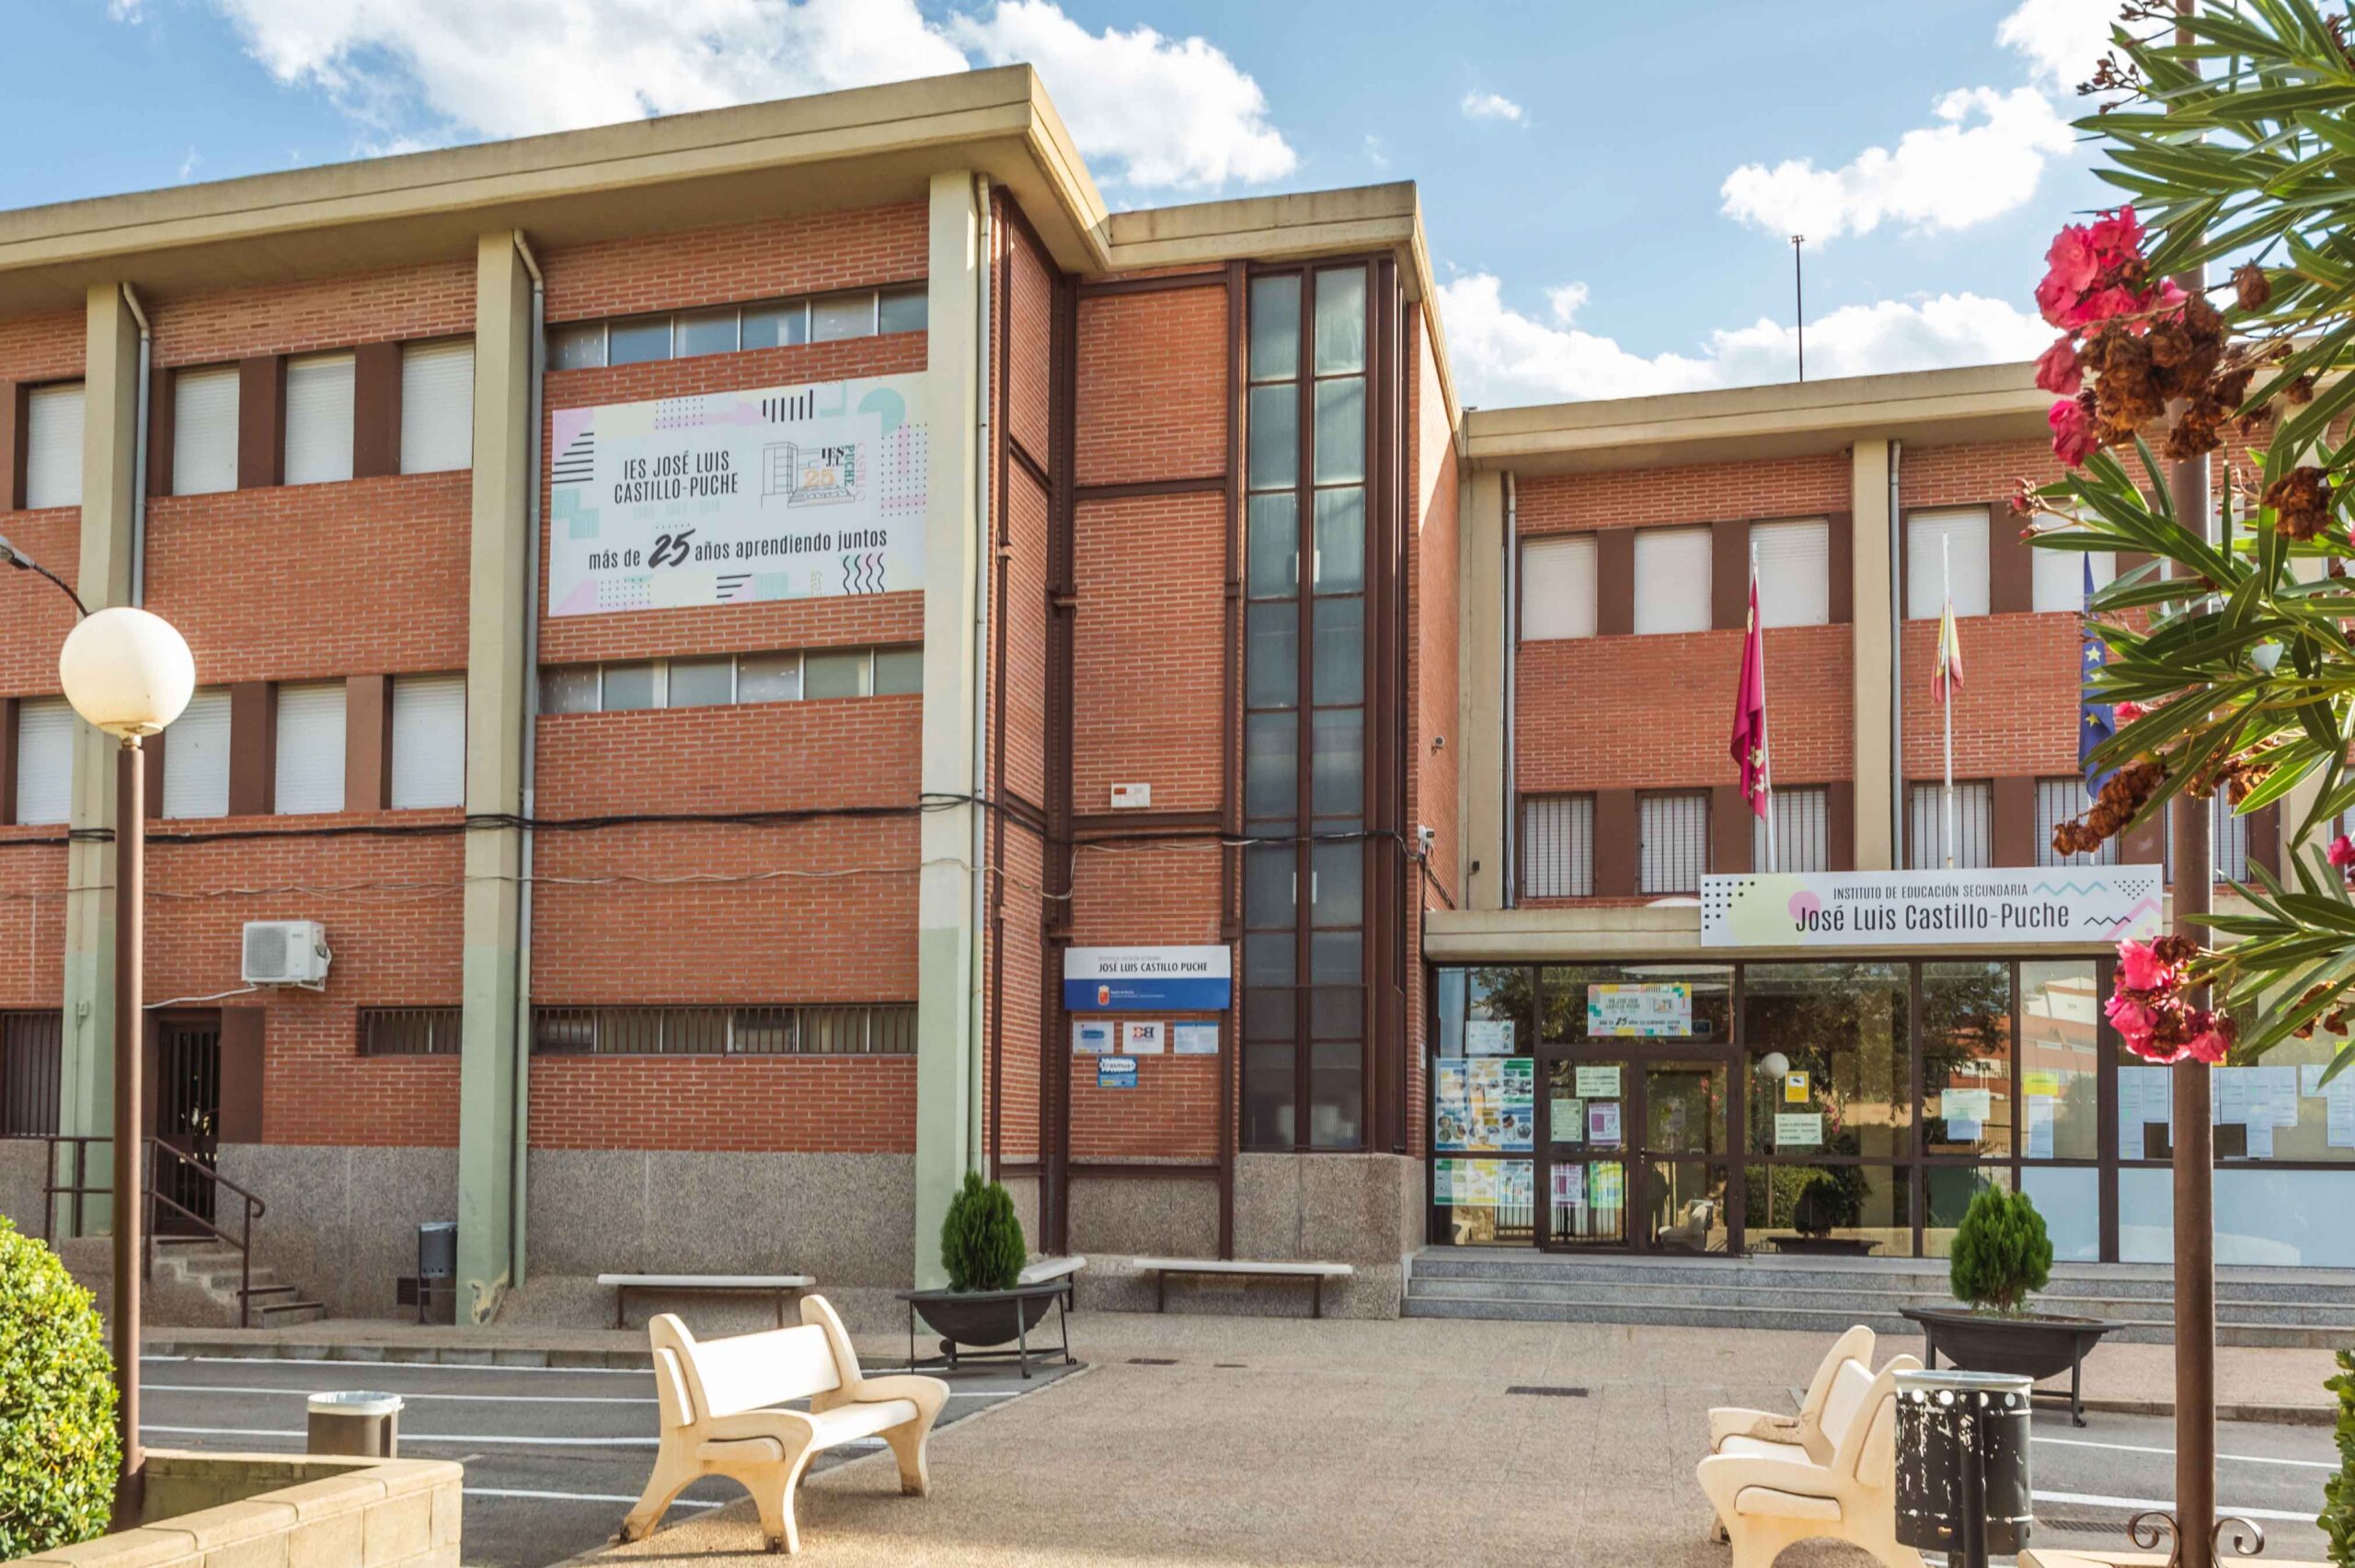
<svg viewBox="0 0 2355 1568">
<path fill-rule="evenodd" d="M 523 810 L 523 617 L 530 459 L 532 280 L 509 231 L 476 242 L 473 546 L 466 567 L 466 812 Z M 457 1114 L 459 1323 L 490 1323 L 516 1276 L 516 1064 L 523 833 L 466 833 L 464 1052 Z"/>
</svg>

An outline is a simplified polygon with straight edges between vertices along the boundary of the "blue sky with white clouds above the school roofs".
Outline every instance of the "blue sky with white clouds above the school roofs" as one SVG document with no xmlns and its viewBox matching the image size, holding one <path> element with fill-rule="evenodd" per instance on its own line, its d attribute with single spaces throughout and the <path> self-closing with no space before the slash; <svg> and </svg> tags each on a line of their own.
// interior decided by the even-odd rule
<svg viewBox="0 0 2355 1568">
<path fill-rule="evenodd" d="M 1114 207 L 1413 179 L 1467 405 L 2023 360 L 2117 0 L 0 0 L 0 207 L 1029 61 Z M 40 68 L 28 68 L 40 61 Z"/>
</svg>

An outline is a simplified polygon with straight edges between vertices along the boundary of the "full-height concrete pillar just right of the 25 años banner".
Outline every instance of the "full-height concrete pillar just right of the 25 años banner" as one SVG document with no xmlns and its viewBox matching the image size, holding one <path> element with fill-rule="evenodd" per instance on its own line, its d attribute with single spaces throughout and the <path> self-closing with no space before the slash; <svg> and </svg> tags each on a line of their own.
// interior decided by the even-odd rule
<svg viewBox="0 0 2355 1568">
<path fill-rule="evenodd" d="M 933 250 L 926 344 L 930 480 L 923 516 L 923 793 L 970 800 L 975 777 L 973 699 L 980 593 L 980 494 L 975 421 L 982 388 L 980 332 L 982 210 L 973 177 L 933 177 Z M 973 984 L 975 869 L 980 810 L 954 805 L 918 817 L 916 888 L 916 1283 L 940 1285 L 940 1222 L 966 1170 L 980 1168 L 980 1052 Z"/>
</svg>

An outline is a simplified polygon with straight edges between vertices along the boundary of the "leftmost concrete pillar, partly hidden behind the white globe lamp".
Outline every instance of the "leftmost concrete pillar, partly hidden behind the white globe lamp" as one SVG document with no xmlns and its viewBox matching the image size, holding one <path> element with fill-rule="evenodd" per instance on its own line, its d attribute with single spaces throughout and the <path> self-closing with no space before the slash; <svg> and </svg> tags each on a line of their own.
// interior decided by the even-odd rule
<svg viewBox="0 0 2355 1568">
<path fill-rule="evenodd" d="M 137 506 L 139 320 L 115 283 L 92 283 L 82 358 L 82 553 L 75 591 L 92 610 L 132 598 Z M 59 563 L 61 565 L 61 563 Z M 47 584 L 40 584 L 47 586 Z M 115 1099 L 115 845 L 82 838 L 115 824 L 115 742 L 75 720 L 73 843 L 66 848 L 66 1038 L 59 1125 L 113 1130 Z M 106 1149 L 85 1180 L 106 1184 Z M 85 1203 L 85 1229 L 111 1224 L 108 1201 Z"/>
</svg>

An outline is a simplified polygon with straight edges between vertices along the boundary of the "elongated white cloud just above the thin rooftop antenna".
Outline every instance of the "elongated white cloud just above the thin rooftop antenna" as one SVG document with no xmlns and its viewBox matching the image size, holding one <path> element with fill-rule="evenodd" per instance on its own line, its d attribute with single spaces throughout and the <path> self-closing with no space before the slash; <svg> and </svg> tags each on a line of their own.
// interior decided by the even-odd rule
<svg viewBox="0 0 2355 1568">
<path fill-rule="evenodd" d="M 1884 221 L 1924 231 L 1969 228 L 2021 207 L 2044 165 L 2075 146 L 2035 87 L 1959 87 L 1936 104 L 1938 125 L 1910 129 L 1896 151 L 1865 148 L 1837 170 L 1787 158 L 1745 162 L 1719 188 L 1726 217 L 1809 240 L 1870 233 Z"/>
</svg>

